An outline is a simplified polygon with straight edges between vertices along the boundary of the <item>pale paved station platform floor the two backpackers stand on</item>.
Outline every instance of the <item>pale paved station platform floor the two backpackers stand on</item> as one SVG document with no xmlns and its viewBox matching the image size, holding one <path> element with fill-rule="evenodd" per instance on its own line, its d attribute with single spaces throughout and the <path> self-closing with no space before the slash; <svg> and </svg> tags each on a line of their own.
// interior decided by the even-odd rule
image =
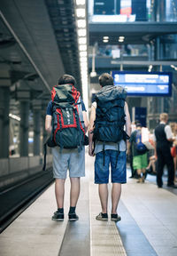
<svg viewBox="0 0 177 256">
<path fill-rule="evenodd" d="M 127 168 L 127 184 L 122 185 L 118 206 L 122 220 L 96 220 L 101 207 L 93 181 L 94 160 L 86 156 L 86 177 L 81 179 L 76 209 L 80 219 L 69 222 L 67 218 L 67 179 L 65 220 L 51 220 L 57 208 L 53 184 L 0 235 L 1 256 L 177 255 L 177 189 L 158 188 L 156 177 L 150 175 L 144 184 L 138 184 L 128 178 Z"/>
</svg>

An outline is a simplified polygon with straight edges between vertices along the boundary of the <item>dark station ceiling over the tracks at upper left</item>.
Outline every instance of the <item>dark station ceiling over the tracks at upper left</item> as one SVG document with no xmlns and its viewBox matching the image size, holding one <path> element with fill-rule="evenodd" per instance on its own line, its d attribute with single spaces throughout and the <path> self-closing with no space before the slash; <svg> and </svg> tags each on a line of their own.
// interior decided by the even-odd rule
<svg viewBox="0 0 177 256">
<path fill-rule="evenodd" d="M 0 65 L 12 84 L 50 95 L 66 73 L 81 91 L 73 0 L 1 0 L 0 14 Z"/>
</svg>

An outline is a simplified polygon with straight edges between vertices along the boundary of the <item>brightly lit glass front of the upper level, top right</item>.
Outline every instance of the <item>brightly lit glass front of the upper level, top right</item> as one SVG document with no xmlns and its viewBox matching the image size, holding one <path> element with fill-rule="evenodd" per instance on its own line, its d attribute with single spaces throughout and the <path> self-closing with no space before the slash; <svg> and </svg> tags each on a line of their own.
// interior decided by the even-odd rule
<svg viewBox="0 0 177 256">
<path fill-rule="evenodd" d="M 175 22 L 176 0 L 89 0 L 89 22 Z"/>
</svg>

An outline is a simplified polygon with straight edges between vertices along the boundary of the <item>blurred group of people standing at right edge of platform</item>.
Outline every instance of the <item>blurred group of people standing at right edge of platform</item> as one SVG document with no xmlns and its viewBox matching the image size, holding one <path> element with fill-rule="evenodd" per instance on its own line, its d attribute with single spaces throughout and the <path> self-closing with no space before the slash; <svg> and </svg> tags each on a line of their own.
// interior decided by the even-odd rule
<svg viewBox="0 0 177 256">
<path fill-rule="evenodd" d="M 143 183 L 147 174 L 157 176 L 158 188 L 163 187 L 164 168 L 167 168 L 167 186 L 177 188 L 177 123 L 168 124 L 168 115 L 159 116 L 159 124 L 153 134 L 139 121 L 132 124 L 127 145 L 131 177 Z M 147 135 L 148 132 L 148 135 Z"/>
</svg>

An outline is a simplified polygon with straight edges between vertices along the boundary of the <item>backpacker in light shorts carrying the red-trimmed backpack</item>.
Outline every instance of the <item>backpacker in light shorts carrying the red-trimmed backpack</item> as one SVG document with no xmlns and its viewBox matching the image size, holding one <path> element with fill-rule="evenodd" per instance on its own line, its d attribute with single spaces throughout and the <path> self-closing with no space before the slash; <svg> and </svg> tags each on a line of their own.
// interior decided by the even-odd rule
<svg viewBox="0 0 177 256">
<path fill-rule="evenodd" d="M 52 220 L 64 220 L 65 179 L 67 169 L 71 181 L 69 220 L 78 220 L 75 212 L 80 195 L 80 178 L 85 176 L 84 137 L 89 122 L 80 92 L 73 76 L 64 75 L 51 91 L 45 129 L 50 133 L 48 146 L 52 147 L 53 177 L 58 205 Z"/>
</svg>

